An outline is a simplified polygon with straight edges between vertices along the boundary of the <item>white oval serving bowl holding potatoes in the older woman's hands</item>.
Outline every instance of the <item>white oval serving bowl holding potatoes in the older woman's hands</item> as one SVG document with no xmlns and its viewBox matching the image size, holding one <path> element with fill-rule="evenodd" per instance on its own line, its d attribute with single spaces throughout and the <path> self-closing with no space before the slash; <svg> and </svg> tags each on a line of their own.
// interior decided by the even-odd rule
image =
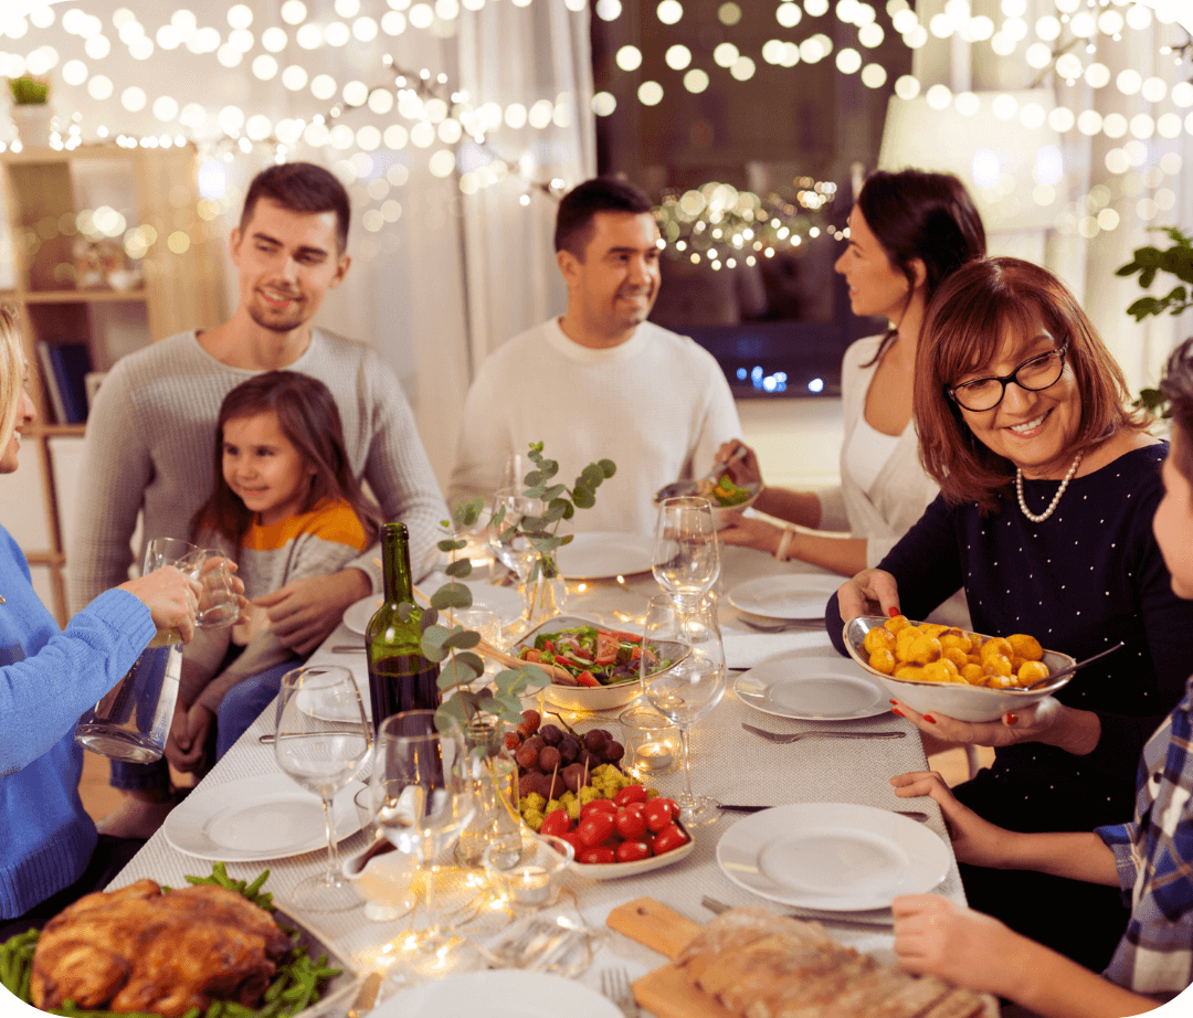
<svg viewBox="0 0 1193 1018">
<path fill-rule="evenodd" d="M 845 645 L 849 650 L 849 656 L 871 675 L 877 676 L 891 696 L 902 700 L 920 714 L 944 714 L 946 718 L 953 718 L 958 721 L 996 721 L 1007 710 L 1020 710 L 1039 702 L 1045 696 L 1051 696 L 1073 678 L 1070 672 L 1031 691 L 1026 689 L 988 689 L 984 685 L 970 685 L 960 682 L 916 682 L 908 678 L 894 678 L 870 666 L 870 654 L 863 646 L 866 633 L 882 626 L 885 621 L 880 615 L 859 615 L 857 619 L 851 619 L 845 623 Z M 1047 665 L 1049 671 L 1061 671 L 1074 663 L 1074 659 L 1068 654 L 1062 654 L 1058 651 L 1044 651 L 1044 664 Z"/>
</svg>

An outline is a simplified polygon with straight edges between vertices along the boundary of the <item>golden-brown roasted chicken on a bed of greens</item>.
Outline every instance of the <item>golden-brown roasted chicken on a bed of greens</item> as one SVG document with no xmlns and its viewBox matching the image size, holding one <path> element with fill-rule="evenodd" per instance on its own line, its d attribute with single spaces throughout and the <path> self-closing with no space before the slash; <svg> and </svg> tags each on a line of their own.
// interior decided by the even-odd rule
<svg viewBox="0 0 1193 1018">
<path fill-rule="evenodd" d="M 291 946 L 234 890 L 200 884 L 162 894 L 140 880 L 80 898 L 45 925 L 30 991 L 43 1010 L 73 1000 L 173 1018 L 212 999 L 254 1006 Z"/>
</svg>

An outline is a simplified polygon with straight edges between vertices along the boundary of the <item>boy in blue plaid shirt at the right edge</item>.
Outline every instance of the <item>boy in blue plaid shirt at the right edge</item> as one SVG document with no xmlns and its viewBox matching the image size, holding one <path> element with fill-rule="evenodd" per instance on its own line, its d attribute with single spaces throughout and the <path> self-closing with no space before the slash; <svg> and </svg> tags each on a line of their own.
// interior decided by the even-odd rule
<svg viewBox="0 0 1193 1018">
<path fill-rule="evenodd" d="M 1169 399 L 1173 435 L 1152 532 L 1172 575 L 1173 592 L 1193 600 L 1188 536 L 1193 530 L 1193 340 L 1172 355 L 1161 391 Z M 1138 1014 L 1185 991 L 1193 982 L 1191 745 L 1193 678 L 1144 746 L 1133 820 L 1094 831 L 1006 831 L 958 802 L 938 774 L 891 778 L 896 795 L 931 795 L 940 803 L 958 861 L 1117 887 L 1131 907 L 1109 966 L 1096 975 L 996 919 L 939 895 L 897 898 L 895 951 L 903 967 L 997 993 L 1043 1018 Z M 1056 907 L 1055 901 L 1039 896 L 1028 904 L 1037 910 Z M 1086 923 L 1089 917 L 1068 919 Z"/>
</svg>

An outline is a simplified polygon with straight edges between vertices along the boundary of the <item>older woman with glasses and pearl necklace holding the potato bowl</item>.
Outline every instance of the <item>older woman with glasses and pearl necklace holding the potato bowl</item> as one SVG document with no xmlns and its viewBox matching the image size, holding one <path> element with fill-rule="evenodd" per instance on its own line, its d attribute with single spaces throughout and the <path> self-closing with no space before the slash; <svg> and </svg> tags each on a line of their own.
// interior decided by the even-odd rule
<svg viewBox="0 0 1193 1018">
<path fill-rule="evenodd" d="M 1125 646 L 1055 697 L 989 724 L 894 710 L 946 744 L 995 747 L 957 797 L 1013 831 L 1088 831 L 1127 815 L 1144 741 L 1193 668 L 1193 606 L 1151 533 L 1166 446 L 1064 285 L 1018 259 L 954 273 L 928 309 L 914 397 L 940 496 L 827 623 L 923 619 L 964 586 L 973 628 L 1030 633 L 1078 660 Z M 1095 972 L 1126 925 L 1114 888 L 962 867 L 970 904 Z"/>
</svg>

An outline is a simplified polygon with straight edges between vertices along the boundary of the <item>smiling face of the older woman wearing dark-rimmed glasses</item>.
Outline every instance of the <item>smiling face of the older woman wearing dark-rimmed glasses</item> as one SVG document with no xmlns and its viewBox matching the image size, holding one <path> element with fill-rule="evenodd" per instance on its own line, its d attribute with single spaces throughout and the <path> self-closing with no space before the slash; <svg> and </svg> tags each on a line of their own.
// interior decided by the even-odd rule
<svg viewBox="0 0 1193 1018">
<path fill-rule="evenodd" d="M 1034 317 L 1026 336 L 1005 330 L 995 359 L 965 372 L 953 384 L 1010 374 L 1024 361 L 1057 349 L 1062 342 L 1062 336 L 1053 336 Z M 1024 472 L 1024 477 L 1063 477 L 1073 463 L 1070 449 L 1081 423 L 1081 393 L 1068 361 L 1059 380 L 1047 389 L 1030 392 L 1010 381 L 1002 402 L 993 410 L 960 408 L 960 412 L 975 437 L 991 452 L 1010 460 Z"/>
</svg>

